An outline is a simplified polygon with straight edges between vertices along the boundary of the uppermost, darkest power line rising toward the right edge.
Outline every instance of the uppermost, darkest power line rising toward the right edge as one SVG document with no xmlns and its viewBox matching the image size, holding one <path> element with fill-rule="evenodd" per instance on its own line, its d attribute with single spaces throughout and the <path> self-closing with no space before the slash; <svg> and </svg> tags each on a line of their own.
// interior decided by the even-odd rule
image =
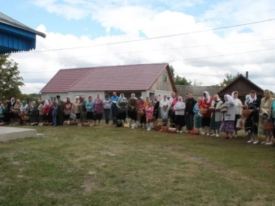
<svg viewBox="0 0 275 206">
<path fill-rule="evenodd" d="M 239 25 L 218 27 L 218 28 L 209 29 L 209 30 L 200 30 L 200 31 L 196 31 L 196 32 L 186 32 L 186 33 L 181 33 L 181 34 L 170 34 L 170 35 L 166 35 L 166 36 L 156 36 L 156 37 L 151 37 L 151 38 L 142 38 L 142 39 L 135 39 L 135 40 L 129 40 L 129 41 L 120 41 L 120 42 L 115 42 L 115 43 L 105 43 L 105 44 L 99 44 L 99 45 L 89 45 L 89 46 L 82 46 L 82 47 L 69 47 L 69 48 L 61 48 L 61 49 L 39 50 L 39 51 L 28 52 L 28 54 L 37 53 L 37 52 L 53 52 L 53 51 L 61 51 L 61 50 L 68 50 L 68 49 L 79 49 L 79 48 L 87 48 L 87 47 L 100 47 L 100 46 L 106 46 L 106 45 L 117 45 L 117 44 L 122 44 L 122 43 L 147 41 L 147 40 L 152 40 L 152 39 L 167 38 L 167 37 L 173 37 L 173 36 L 181 36 L 181 35 L 186 35 L 186 34 L 197 34 L 197 33 L 201 33 L 201 32 L 217 31 L 217 30 L 229 29 L 229 28 L 232 28 L 232 27 L 241 27 L 241 26 L 244 26 L 244 25 L 252 25 L 252 24 L 256 24 L 256 23 L 263 23 L 263 22 L 274 21 L 274 20 L 275 19 L 267 19 L 267 20 L 263 20 L 263 21 L 254 21 L 254 22 L 251 22 L 251 23 L 242 23 L 242 24 L 239 24 Z M 21 52 L 21 53 L 27 53 L 27 52 Z"/>
</svg>

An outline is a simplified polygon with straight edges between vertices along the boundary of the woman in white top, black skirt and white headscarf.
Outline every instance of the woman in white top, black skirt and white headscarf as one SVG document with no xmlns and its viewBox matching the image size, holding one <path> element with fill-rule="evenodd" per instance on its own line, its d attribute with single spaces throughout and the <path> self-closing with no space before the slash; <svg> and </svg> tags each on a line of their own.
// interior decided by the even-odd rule
<svg viewBox="0 0 275 206">
<path fill-rule="evenodd" d="M 175 104 L 173 109 L 175 110 L 175 125 L 177 125 L 177 133 L 182 133 L 182 127 L 185 126 L 184 111 L 186 105 L 181 97 L 179 97 L 178 100 L 179 101 Z"/>
</svg>

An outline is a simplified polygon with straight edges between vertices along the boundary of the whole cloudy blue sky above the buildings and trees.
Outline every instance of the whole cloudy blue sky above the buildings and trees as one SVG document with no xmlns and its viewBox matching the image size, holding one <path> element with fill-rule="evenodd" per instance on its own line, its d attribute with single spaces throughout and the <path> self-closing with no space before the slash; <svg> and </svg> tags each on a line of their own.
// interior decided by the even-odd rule
<svg viewBox="0 0 275 206">
<path fill-rule="evenodd" d="M 206 86 L 248 71 L 275 91 L 275 20 L 265 21 L 274 0 L 10 0 L 0 12 L 47 35 L 11 55 L 23 93 L 39 93 L 59 69 L 155 62 Z M 216 30 L 232 25 L 242 26 Z"/>
</svg>

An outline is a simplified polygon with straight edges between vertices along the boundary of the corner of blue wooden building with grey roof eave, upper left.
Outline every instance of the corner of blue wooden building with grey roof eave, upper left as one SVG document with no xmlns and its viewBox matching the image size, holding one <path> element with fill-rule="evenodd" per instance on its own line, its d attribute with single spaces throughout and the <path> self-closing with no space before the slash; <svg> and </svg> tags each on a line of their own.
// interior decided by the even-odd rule
<svg viewBox="0 0 275 206">
<path fill-rule="evenodd" d="M 37 32 L 0 12 L 0 54 L 35 49 L 36 35 L 46 37 L 42 32 Z"/>
</svg>

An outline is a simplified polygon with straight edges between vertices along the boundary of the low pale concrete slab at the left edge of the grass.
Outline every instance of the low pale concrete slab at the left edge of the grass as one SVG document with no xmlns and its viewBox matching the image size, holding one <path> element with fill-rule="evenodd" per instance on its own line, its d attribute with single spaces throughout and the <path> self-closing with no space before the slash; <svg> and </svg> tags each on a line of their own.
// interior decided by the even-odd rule
<svg viewBox="0 0 275 206">
<path fill-rule="evenodd" d="M 29 128 L 0 127 L 0 141 L 10 141 L 28 137 L 38 137 L 37 131 Z"/>
</svg>

